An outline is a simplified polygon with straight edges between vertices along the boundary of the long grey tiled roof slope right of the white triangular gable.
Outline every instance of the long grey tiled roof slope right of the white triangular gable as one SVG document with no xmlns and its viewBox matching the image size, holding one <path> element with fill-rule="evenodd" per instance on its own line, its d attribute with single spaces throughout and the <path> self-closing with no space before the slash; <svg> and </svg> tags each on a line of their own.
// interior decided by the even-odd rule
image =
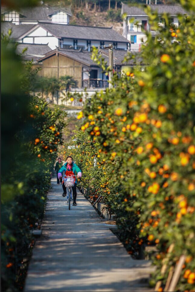
<svg viewBox="0 0 195 292">
<path fill-rule="evenodd" d="M 55 37 L 84 39 L 84 40 L 101 40 L 125 42 L 128 40 L 112 28 L 95 27 L 95 26 L 81 26 L 81 25 L 63 25 L 54 23 L 41 23 L 39 25 L 45 28 Z"/>
</svg>

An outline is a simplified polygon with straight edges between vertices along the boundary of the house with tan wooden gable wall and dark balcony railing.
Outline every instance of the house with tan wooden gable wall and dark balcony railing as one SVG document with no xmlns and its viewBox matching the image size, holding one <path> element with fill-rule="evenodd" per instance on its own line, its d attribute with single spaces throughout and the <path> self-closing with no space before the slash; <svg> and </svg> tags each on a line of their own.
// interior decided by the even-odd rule
<svg viewBox="0 0 195 292">
<path fill-rule="evenodd" d="M 108 50 L 100 49 L 99 53 L 102 54 L 105 61 L 109 64 Z M 114 70 L 121 74 L 121 67 L 123 66 L 122 60 L 127 54 L 125 50 L 114 50 Z M 131 61 L 132 62 L 132 61 Z M 124 65 L 134 66 L 133 63 L 127 63 Z M 91 52 L 88 50 L 74 50 L 70 48 L 56 48 L 50 50 L 45 54 L 44 57 L 37 59 L 37 66 L 41 67 L 39 75 L 43 77 L 56 77 L 59 79 L 61 76 L 72 76 L 77 82 L 76 87 L 71 88 L 70 92 L 87 92 L 88 98 L 90 98 L 95 92 L 105 90 L 108 86 L 108 76 L 102 69 L 91 60 Z M 54 96 L 54 103 L 60 101 L 60 95 L 57 93 Z M 61 97 L 64 97 L 61 95 Z M 85 100 L 85 94 L 84 99 Z M 48 100 L 49 101 L 49 100 Z M 77 100 L 74 101 L 73 105 L 79 105 Z"/>
</svg>

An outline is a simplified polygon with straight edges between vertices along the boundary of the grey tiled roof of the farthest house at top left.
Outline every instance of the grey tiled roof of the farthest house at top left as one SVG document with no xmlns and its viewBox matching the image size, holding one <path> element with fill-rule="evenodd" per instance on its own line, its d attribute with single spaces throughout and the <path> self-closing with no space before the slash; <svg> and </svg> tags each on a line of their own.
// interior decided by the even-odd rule
<svg viewBox="0 0 195 292">
<path fill-rule="evenodd" d="M 10 9 L 6 6 L 1 7 L 1 14 Z M 57 6 L 35 6 L 35 7 L 24 7 L 17 10 L 20 13 L 21 21 L 39 20 L 39 21 L 51 21 L 50 16 L 52 12 L 64 11 L 68 15 L 72 16 L 70 7 L 57 7 Z"/>
</svg>

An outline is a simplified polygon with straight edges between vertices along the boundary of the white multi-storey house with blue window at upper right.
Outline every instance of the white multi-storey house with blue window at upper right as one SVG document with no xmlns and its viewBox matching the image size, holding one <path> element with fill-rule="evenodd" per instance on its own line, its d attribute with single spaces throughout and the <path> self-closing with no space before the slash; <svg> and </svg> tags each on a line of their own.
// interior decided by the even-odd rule
<svg viewBox="0 0 195 292">
<path fill-rule="evenodd" d="M 179 26 L 178 15 L 188 15 L 188 12 L 181 5 L 157 4 L 148 6 L 151 10 L 158 11 L 159 25 L 164 25 L 161 17 L 163 13 L 169 14 L 170 23 L 173 23 L 175 26 Z M 145 31 L 151 31 L 154 35 L 156 31 L 150 28 L 148 15 L 145 13 L 144 9 L 122 3 L 121 15 L 123 14 L 126 15 L 126 18 L 123 20 L 123 36 L 130 41 L 131 51 L 138 51 L 140 45 L 147 41 Z"/>
</svg>

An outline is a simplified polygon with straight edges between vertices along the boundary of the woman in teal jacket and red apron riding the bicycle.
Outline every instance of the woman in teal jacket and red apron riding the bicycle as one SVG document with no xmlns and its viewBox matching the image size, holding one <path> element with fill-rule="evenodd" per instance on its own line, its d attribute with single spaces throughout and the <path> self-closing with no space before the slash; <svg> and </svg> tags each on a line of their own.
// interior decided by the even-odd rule
<svg viewBox="0 0 195 292">
<path fill-rule="evenodd" d="M 65 172 L 66 176 L 76 175 L 76 173 L 77 173 L 78 177 L 81 177 L 81 175 L 82 175 L 80 168 L 78 167 L 78 165 L 76 165 L 76 163 L 73 162 L 73 158 L 71 156 L 67 156 L 66 163 L 58 171 L 58 178 L 59 179 L 62 179 L 63 172 Z M 76 177 L 75 177 L 74 187 L 72 187 L 72 190 L 73 190 L 73 206 L 77 206 L 77 203 L 76 203 L 76 196 L 77 196 L 77 194 L 76 194 L 76 183 L 77 183 L 77 181 L 76 181 Z M 67 191 L 66 191 L 66 187 L 65 187 L 64 182 L 62 184 L 62 187 L 63 187 L 62 196 L 65 197 L 66 194 L 67 194 Z"/>
</svg>

